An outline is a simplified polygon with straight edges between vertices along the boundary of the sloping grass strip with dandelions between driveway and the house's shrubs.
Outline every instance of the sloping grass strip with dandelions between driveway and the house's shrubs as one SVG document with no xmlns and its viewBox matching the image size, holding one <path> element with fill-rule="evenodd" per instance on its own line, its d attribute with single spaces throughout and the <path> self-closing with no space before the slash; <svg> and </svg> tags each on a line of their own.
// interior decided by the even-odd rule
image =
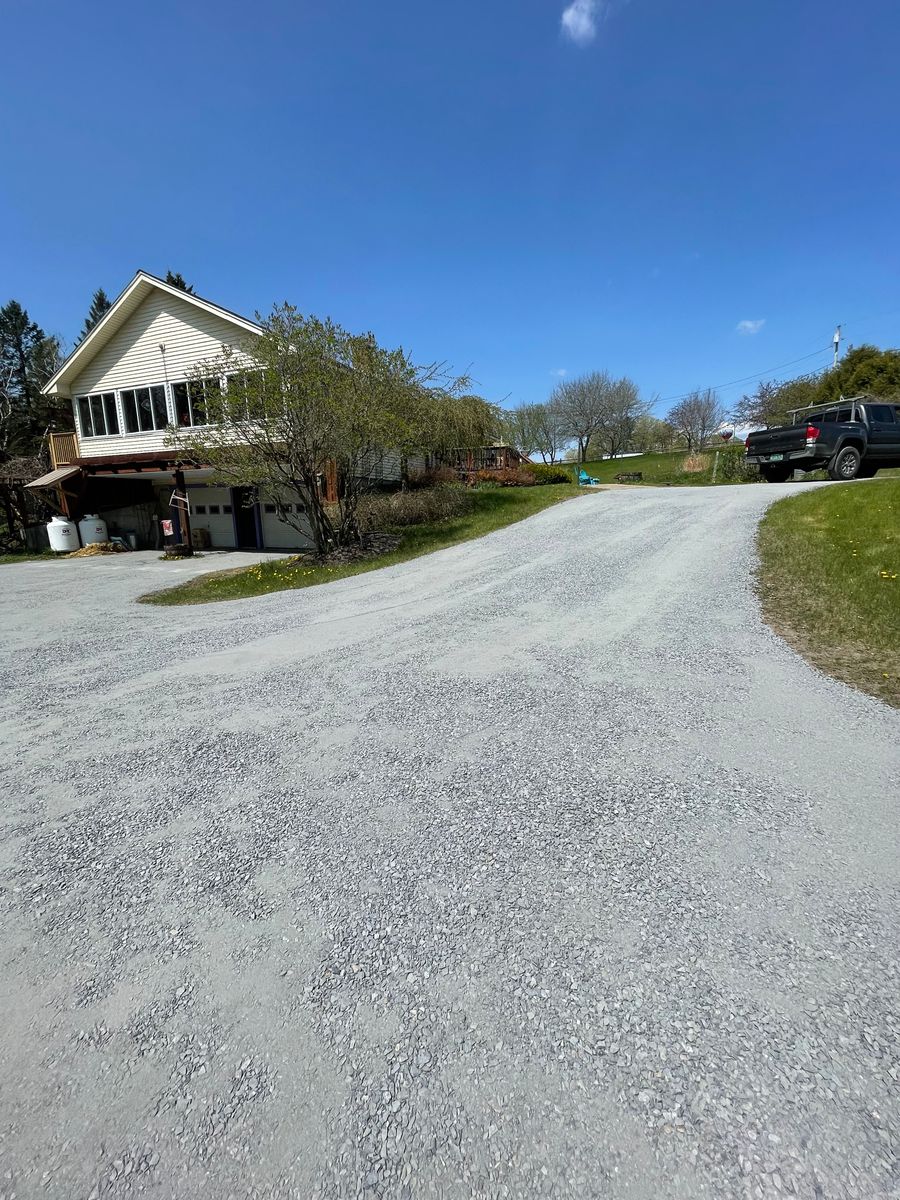
<svg viewBox="0 0 900 1200">
<path fill-rule="evenodd" d="M 216 600 L 242 600 L 247 596 L 283 592 L 288 588 L 310 588 L 318 583 L 331 583 L 348 575 L 361 575 L 380 566 L 404 563 L 420 554 L 430 554 L 460 541 L 481 538 L 494 529 L 534 516 L 542 509 L 588 494 L 571 484 L 551 484 L 540 487 L 492 487 L 478 488 L 472 496 L 474 509 L 464 516 L 433 524 L 408 526 L 395 532 L 401 536 L 396 550 L 378 558 L 347 565 L 313 565 L 296 558 L 278 558 L 256 566 L 200 575 L 163 592 L 151 592 L 140 596 L 145 604 L 210 604 Z"/>
</svg>

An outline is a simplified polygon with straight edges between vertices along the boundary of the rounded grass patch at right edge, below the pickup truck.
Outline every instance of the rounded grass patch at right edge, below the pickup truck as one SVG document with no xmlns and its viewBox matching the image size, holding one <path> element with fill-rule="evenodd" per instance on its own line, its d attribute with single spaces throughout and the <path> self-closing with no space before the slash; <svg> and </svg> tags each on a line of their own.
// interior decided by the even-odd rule
<svg viewBox="0 0 900 1200">
<path fill-rule="evenodd" d="M 815 666 L 900 707 L 900 480 L 774 504 L 760 526 L 766 619 Z"/>
</svg>

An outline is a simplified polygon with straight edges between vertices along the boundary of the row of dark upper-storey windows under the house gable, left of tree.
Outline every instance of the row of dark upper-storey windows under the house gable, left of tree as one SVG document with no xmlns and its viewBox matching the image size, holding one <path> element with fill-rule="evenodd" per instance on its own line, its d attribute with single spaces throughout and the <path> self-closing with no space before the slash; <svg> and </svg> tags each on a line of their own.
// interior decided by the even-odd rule
<svg viewBox="0 0 900 1200">
<path fill-rule="evenodd" d="M 170 425 L 166 388 L 156 384 L 152 388 L 127 388 L 120 394 L 125 430 L 119 427 L 119 412 L 115 404 L 115 392 L 103 391 L 94 396 L 78 396 L 78 422 L 83 438 L 108 437 L 116 433 L 152 433 Z M 175 408 L 175 425 L 190 428 L 206 425 L 217 415 L 215 397 L 222 395 L 217 379 L 199 383 L 176 383 L 172 385 L 172 398 Z"/>
</svg>

